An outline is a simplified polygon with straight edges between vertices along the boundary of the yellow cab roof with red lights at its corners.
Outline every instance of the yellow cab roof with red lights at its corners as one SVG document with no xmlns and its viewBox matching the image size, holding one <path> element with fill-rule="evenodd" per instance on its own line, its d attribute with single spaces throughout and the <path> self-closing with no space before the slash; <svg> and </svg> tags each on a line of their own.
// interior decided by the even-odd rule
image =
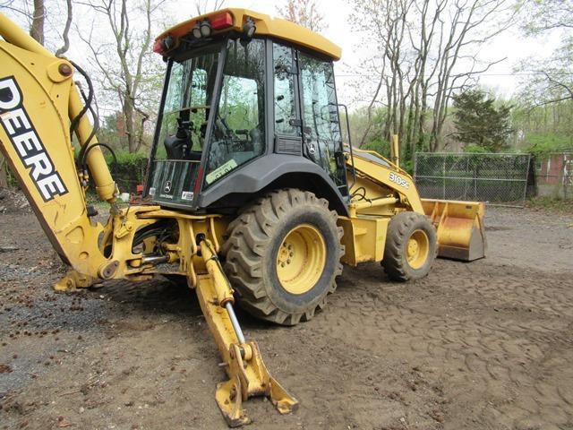
<svg viewBox="0 0 573 430">
<path fill-rule="evenodd" d="M 314 52 L 329 56 L 334 61 L 340 59 L 342 50 L 329 39 L 322 37 L 312 30 L 308 30 L 294 22 L 280 18 L 273 18 L 264 13 L 257 13 L 247 9 L 227 8 L 216 12 L 205 13 L 191 20 L 181 22 L 174 27 L 161 33 L 156 45 L 163 40 L 172 38 L 173 47 L 179 45 L 179 38 L 189 34 L 196 25 L 208 21 L 213 27 L 212 35 L 216 37 L 229 31 L 243 31 L 244 24 L 251 20 L 255 27 L 255 36 L 269 36 L 276 39 L 286 40 L 300 47 L 306 47 Z M 171 50 L 171 48 L 169 48 Z M 163 53 L 166 55 L 166 53 Z M 167 55 L 168 56 L 168 55 Z"/>
</svg>

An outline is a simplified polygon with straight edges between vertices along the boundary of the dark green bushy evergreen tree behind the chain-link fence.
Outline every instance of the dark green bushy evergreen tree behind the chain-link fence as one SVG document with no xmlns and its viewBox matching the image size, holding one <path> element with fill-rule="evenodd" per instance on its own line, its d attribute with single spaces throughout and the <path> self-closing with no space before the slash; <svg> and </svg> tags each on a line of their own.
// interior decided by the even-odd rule
<svg viewBox="0 0 573 430">
<path fill-rule="evenodd" d="M 501 104 L 483 90 L 465 90 L 453 97 L 454 137 L 463 142 L 465 149 L 478 147 L 490 152 L 507 148 L 511 128 L 511 107 Z"/>
</svg>

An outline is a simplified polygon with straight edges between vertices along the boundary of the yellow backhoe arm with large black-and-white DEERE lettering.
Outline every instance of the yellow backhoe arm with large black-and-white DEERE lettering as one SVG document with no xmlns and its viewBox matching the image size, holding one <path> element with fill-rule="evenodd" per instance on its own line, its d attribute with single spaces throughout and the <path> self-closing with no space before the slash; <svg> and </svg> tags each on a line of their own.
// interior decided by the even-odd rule
<svg viewBox="0 0 573 430">
<path fill-rule="evenodd" d="M 88 217 L 85 178 L 75 167 L 69 132 L 70 118 L 83 108 L 73 65 L 3 13 L 0 36 L 0 150 L 57 253 L 82 275 L 98 278 L 106 264 L 98 249 L 103 227 Z M 88 116 L 81 116 L 75 130 L 80 145 L 91 132 Z M 87 164 L 100 199 L 114 203 L 115 182 L 99 147 L 89 151 Z"/>
</svg>

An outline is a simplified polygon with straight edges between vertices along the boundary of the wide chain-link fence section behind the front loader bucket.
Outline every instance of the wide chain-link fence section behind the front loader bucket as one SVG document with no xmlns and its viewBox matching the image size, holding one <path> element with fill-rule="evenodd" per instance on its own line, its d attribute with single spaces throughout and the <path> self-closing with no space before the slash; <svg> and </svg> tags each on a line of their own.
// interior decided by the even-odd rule
<svg viewBox="0 0 573 430">
<path fill-rule="evenodd" d="M 530 166 L 529 154 L 418 152 L 414 176 L 425 198 L 523 206 Z"/>
</svg>

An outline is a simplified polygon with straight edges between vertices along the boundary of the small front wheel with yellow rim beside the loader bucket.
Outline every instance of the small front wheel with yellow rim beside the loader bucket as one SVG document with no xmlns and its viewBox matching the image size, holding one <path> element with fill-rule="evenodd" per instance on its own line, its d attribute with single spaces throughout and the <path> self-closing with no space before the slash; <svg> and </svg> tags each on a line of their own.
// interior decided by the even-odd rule
<svg viewBox="0 0 573 430">
<path fill-rule="evenodd" d="M 389 222 L 382 267 L 391 280 L 419 280 L 432 268 L 436 243 L 436 229 L 424 215 L 398 213 Z"/>
</svg>

